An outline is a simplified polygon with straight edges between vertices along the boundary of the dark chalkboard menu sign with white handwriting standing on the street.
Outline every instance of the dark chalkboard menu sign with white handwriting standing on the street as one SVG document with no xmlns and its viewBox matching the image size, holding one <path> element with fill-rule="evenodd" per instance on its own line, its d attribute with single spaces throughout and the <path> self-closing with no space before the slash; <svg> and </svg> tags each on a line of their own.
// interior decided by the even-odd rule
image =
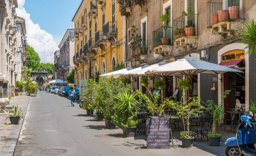
<svg viewBox="0 0 256 156">
<path fill-rule="evenodd" d="M 147 119 L 147 149 L 169 149 L 169 118 Z"/>
</svg>

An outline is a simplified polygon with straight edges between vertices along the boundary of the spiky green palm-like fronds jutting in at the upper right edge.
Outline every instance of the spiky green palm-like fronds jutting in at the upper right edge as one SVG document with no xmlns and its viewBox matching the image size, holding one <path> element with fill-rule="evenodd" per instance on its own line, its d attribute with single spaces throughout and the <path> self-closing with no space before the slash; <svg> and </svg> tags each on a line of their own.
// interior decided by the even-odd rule
<svg viewBox="0 0 256 156">
<path fill-rule="evenodd" d="M 253 53 L 253 49 L 256 47 L 256 22 L 254 20 L 250 20 L 250 24 L 246 23 L 244 30 L 240 30 L 241 33 L 240 39 L 242 39 L 242 43 L 247 45 L 245 48 L 249 48 L 247 52 L 249 56 Z"/>
</svg>

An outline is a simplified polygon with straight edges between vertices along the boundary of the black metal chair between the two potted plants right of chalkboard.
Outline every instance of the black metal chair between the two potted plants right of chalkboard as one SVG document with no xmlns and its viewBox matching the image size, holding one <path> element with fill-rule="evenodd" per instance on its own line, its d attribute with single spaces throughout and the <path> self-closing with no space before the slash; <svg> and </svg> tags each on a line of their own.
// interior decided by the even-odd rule
<svg viewBox="0 0 256 156">
<path fill-rule="evenodd" d="M 210 130 L 209 126 L 211 124 L 211 116 L 209 116 L 208 114 L 203 114 L 201 116 L 198 117 L 198 120 L 197 120 L 197 127 L 195 128 L 195 133 L 197 133 L 197 137 L 198 137 L 198 143 L 199 143 L 199 133 L 201 133 L 201 138 L 202 136 L 206 136 L 207 137 L 207 141 L 209 140 L 208 139 L 208 136 L 207 136 L 207 133 L 208 133 L 208 130 Z M 207 131 L 206 133 L 204 133 L 204 131 Z M 194 136 L 195 136 L 195 133 L 194 133 Z M 194 138 L 195 140 L 195 138 Z"/>
</svg>

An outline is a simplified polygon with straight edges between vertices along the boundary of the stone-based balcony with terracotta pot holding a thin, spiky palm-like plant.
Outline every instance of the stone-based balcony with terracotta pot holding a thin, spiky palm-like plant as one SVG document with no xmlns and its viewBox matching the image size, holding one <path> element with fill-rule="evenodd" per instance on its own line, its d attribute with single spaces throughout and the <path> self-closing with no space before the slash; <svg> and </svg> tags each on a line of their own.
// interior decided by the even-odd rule
<svg viewBox="0 0 256 156">
<path fill-rule="evenodd" d="M 172 51 L 172 28 L 160 27 L 154 30 L 152 35 L 155 54 L 166 55 Z"/>
</svg>

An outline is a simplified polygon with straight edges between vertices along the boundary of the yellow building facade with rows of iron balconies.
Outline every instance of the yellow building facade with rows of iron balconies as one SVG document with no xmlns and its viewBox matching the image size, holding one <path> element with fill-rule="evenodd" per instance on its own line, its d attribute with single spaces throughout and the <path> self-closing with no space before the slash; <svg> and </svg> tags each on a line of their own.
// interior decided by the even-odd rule
<svg viewBox="0 0 256 156">
<path fill-rule="evenodd" d="M 125 17 L 116 0 L 82 0 L 73 17 L 75 26 L 75 85 L 111 71 L 125 62 Z M 124 28 L 123 28 L 124 27 Z"/>
</svg>

